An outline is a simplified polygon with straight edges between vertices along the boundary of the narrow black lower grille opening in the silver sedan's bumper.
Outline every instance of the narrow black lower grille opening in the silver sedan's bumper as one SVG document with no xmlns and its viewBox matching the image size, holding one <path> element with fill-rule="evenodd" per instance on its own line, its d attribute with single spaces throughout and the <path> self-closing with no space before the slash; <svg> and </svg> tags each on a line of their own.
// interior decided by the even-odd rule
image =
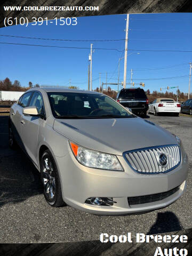
<svg viewBox="0 0 192 256">
<path fill-rule="evenodd" d="M 148 196 L 136 196 L 136 197 L 128 197 L 129 205 L 135 205 L 135 204 L 147 204 L 147 203 L 153 203 L 156 201 L 161 201 L 174 193 L 176 193 L 179 190 L 180 186 L 177 188 L 173 188 L 167 192 L 148 195 Z"/>
</svg>

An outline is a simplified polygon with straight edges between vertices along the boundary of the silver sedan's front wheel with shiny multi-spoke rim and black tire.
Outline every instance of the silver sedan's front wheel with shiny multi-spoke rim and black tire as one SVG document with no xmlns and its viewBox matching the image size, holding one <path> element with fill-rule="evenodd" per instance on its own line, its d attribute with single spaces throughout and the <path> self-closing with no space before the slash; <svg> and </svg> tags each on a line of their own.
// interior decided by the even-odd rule
<svg viewBox="0 0 192 256">
<path fill-rule="evenodd" d="M 59 172 L 50 150 L 45 150 L 41 158 L 41 180 L 46 202 L 52 207 L 64 206 Z"/>
</svg>

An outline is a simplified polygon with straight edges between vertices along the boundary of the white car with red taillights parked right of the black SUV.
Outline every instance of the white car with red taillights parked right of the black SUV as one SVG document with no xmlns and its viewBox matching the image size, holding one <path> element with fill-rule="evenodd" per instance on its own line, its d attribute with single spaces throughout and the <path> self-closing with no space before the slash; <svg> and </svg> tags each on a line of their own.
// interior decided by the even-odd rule
<svg viewBox="0 0 192 256">
<path fill-rule="evenodd" d="M 159 113 L 174 113 L 179 116 L 180 110 L 181 105 L 179 102 L 170 98 L 158 98 L 149 105 L 148 113 L 153 113 L 155 116 Z"/>
</svg>

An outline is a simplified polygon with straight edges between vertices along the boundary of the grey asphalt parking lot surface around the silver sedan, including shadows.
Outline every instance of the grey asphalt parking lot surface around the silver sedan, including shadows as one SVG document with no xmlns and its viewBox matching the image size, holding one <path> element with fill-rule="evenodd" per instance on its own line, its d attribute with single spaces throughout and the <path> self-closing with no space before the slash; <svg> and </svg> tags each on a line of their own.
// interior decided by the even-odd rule
<svg viewBox="0 0 192 256">
<path fill-rule="evenodd" d="M 0 116 L 0 243 L 75 242 L 98 240 L 101 233 L 134 236 L 191 228 L 192 118 L 148 115 L 146 119 L 181 138 L 189 157 L 187 191 L 161 210 L 98 216 L 70 206 L 53 208 L 45 202 L 38 171 L 20 149 L 9 149 L 8 116 Z"/>
</svg>

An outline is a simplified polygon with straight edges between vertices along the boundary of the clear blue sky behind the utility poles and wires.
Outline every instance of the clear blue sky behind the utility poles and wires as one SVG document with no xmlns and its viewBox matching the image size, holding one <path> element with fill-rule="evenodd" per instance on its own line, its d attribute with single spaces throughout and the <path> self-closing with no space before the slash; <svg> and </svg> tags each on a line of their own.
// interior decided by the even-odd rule
<svg viewBox="0 0 192 256">
<path fill-rule="evenodd" d="M 93 50 L 95 49 L 92 58 L 93 90 L 99 87 L 99 73 L 101 83 L 106 83 L 106 73 L 107 83 L 117 83 L 118 60 L 124 57 L 125 19 L 124 14 L 103 15 L 77 18 L 76 26 L 56 26 L 54 22 L 46 25 L 44 22 L 42 26 L 17 25 L 0 28 L 0 43 L 87 48 L 0 44 L 0 80 L 9 77 L 12 82 L 20 81 L 23 87 L 28 86 L 31 81 L 33 84 L 49 86 L 74 85 L 87 90 L 92 43 Z M 126 82 L 130 83 L 132 69 L 135 87 L 139 87 L 137 83 L 143 82 L 145 90 L 149 89 L 151 92 L 167 86 L 179 86 L 180 91 L 188 92 L 189 62 L 192 62 L 191 21 L 192 13 L 130 14 Z M 3 35 L 84 41 L 54 41 Z M 124 59 L 120 61 L 120 82 L 123 81 L 123 73 Z M 117 85 L 108 86 L 117 89 Z M 170 89 L 174 93 L 176 90 Z"/>
</svg>

